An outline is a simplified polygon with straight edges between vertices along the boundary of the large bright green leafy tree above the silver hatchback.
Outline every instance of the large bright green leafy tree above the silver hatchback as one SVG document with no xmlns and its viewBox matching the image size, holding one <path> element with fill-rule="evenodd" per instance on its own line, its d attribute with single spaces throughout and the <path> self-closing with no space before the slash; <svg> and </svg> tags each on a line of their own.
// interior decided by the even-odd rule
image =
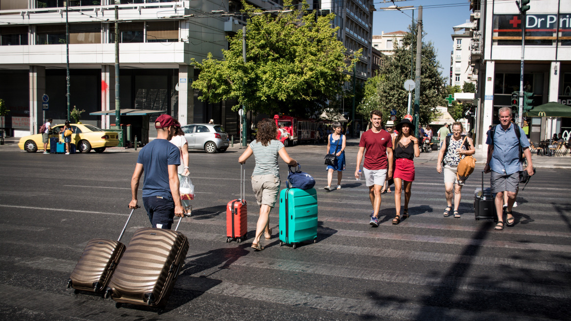
<svg viewBox="0 0 571 321">
<path fill-rule="evenodd" d="M 235 99 L 255 113 L 292 113 L 313 115 L 335 99 L 341 86 L 349 81 L 353 57 L 345 55 L 343 42 L 337 40 L 335 17 L 309 14 L 307 3 L 300 10 L 271 15 L 243 2 L 250 15 L 246 32 L 246 63 L 242 58 L 242 31 L 228 37 L 224 58 L 209 53 L 198 62 L 198 80 L 202 101 Z M 284 2 L 284 6 L 291 1 Z M 360 52 L 357 53 L 357 57 Z"/>
</svg>

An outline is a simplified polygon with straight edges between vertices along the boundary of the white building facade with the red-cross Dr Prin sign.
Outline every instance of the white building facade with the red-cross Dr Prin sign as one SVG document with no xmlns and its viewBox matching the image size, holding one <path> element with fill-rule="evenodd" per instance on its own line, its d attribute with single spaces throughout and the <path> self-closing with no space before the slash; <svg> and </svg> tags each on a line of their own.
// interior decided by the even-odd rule
<svg viewBox="0 0 571 321">
<path fill-rule="evenodd" d="M 485 147 L 489 125 L 498 123 L 498 109 L 510 107 L 520 90 L 521 31 L 525 24 L 524 88 L 534 106 L 571 103 L 571 2 L 530 3 L 525 21 L 515 2 L 472 0 L 471 57 L 478 75 L 476 144 Z M 569 118 L 529 118 L 525 129 L 532 142 L 571 131 Z M 484 148 L 485 150 L 485 148 Z"/>
</svg>

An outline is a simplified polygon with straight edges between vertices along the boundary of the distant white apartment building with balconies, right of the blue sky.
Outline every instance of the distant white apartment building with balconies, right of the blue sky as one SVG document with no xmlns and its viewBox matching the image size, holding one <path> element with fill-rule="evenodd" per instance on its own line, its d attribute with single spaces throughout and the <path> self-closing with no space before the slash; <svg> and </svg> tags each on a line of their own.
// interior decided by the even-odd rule
<svg viewBox="0 0 571 321">
<path fill-rule="evenodd" d="M 477 83 L 478 77 L 473 73 L 471 63 L 472 28 L 474 27 L 475 24 L 470 21 L 453 27 L 450 64 L 451 86 L 462 87 L 464 82 Z"/>
</svg>

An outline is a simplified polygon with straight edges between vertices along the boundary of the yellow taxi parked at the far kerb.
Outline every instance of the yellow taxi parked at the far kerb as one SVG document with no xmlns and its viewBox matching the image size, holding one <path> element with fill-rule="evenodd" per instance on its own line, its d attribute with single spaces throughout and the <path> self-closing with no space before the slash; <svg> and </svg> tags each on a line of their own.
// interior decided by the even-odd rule
<svg viewBox="0 0 571 321">
<path fill-rule="evenodd" d="M 115 147 L 119 145 L 119 134 L 113 131 L 104 131 L 97 126 L 84 124 L 70 124 L 73 134 L 71 134 L 71 142 L 75 144 L 78 153 L 89 153 L 94 149 L 97 153 L 103 153 L 106 147 Z M 59 138 L 63 142 L 60 133 L 63 125 L 51 126 L 49 138 Z M 18 147 L 28 153 L 35 153 L 38 149 L 43 150 L 42 134 L 28 135 L 20 138 Z M 50 143 L 47 144 L 50 149 Z"/>
</svg>

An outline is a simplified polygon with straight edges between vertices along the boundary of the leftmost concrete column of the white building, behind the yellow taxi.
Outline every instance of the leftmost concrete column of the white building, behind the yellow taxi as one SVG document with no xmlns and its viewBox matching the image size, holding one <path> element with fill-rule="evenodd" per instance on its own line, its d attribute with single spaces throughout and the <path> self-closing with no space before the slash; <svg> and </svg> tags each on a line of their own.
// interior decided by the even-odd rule
<svg viewBox="0 0 571 321">
<path fill-rule="evenodd" d="M 30 134 L 38 134 L 44 122 L 42 95 L 46 93 L 46 67 L 30 66 Z M 49 116 L 46 116 L 49 118 Z"/>
</svg>

